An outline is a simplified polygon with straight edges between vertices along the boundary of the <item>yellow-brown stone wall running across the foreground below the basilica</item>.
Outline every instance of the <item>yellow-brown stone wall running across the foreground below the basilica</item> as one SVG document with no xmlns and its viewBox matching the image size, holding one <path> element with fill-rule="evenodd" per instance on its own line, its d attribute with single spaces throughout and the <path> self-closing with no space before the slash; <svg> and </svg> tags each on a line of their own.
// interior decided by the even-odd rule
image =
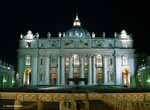
<svg viewBox="0 0 150 110">
<path fill-rule="evenodd" d="M 149 110 L 150 93 L 21 93 L 0 92 L 0 99 L 15 100 L 15 110 L 21 110 L 21 102 L 35 102 L 42 110 L 42 102 L 59 102 L 59 109 L 64 110 L 65 102 L 71 103 L 71 110 L 76 109 L 76 101 L 82 100 L 84 109 L 89 109 L 89 100 L 99 100 L 112 110 Z M 18 107 L 19 106 L 19 107 Z"/>
</svg>

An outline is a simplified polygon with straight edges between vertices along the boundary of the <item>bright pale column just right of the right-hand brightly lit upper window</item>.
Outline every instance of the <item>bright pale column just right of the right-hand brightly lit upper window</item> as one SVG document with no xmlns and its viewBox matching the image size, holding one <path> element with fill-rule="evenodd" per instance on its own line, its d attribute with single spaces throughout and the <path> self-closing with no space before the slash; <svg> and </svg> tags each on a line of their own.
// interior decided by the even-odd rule
<svg viewBox="0 0 150 110">
<path fill-rule="evenodd" d="M 104 56 L 104 84 L 107 85 L 108 84 L 108 73 L 107 73 L 107 64 L 108 63 L 108 57 L 105 55 Z"/>
</svg>

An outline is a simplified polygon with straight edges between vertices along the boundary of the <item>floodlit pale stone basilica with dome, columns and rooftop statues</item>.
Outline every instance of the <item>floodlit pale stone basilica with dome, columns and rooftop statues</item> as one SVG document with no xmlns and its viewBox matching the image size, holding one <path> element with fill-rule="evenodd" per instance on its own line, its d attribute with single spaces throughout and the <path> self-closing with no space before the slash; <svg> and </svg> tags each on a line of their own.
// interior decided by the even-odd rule
<svg viewBox="0 0 150 110">
<path fill-rule="evenodd" d="M 21 35 L 18 74 L 21 86 L 36 85 L 125 85 L 135 73 L 133 39 L 125 30 L 108 38 L 89 33 L 76 16 L 73 27 L 48 32 L 47 38 L 28 31 Z"/>
</svg>

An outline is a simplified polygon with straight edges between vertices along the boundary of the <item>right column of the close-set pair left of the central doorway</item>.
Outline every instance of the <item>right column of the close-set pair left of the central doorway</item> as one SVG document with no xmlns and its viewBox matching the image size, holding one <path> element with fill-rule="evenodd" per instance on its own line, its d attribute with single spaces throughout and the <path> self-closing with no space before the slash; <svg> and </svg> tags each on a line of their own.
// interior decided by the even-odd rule
<svg viewBox="0 0 150 110">
<path fill-rule="evenodd" d="M 61 85 L 65 85 L 64 56 L 61 57 Z"/>
</svg>

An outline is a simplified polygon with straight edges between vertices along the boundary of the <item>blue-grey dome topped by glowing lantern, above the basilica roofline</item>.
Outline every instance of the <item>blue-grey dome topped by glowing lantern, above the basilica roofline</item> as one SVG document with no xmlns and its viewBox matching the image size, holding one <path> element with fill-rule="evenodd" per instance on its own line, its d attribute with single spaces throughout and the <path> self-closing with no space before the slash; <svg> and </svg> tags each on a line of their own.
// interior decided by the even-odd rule
<svg viewBox="0 0 150 110">
<path fill-rule="evenodd" d="M 91 38 L 90 33 L 81 27 L 81 22 L 76 15 L 73 22 L 73 27 L 66 31 L 65 37 L 67 38 Z"/>
</svg>

